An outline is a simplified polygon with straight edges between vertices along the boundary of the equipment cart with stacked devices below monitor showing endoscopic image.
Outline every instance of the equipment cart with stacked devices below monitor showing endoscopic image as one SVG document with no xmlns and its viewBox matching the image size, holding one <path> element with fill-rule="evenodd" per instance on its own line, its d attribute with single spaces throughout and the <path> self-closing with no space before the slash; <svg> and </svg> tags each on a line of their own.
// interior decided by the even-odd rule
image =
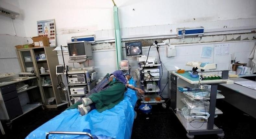
<svg viewBox="0 0 256 139">
<path fill-rule="evenodd" d="M 139 62 L 139 68 L 143 68 L 144 67 L 144 63 L 143 62 Z M 152 69 L 158 69 L 159 72 L 157 72 L 157 74 L 159 75 L 158 78 L 152 77 L 152 74 L 154 75 L 154 72 L 147 72 L 144 69 L 144 72 L 141 73 L 141 76 L 138 75 L 138 77 L 140 78 L 140 81 L 144 82 L 144 85 L 141 84 L 141 89 L 145 92 L 144 97 L 141 97 L 142 104 L 145 103 L 164 103 L 165 100 L 162 100 L 160 97 L 160 93 L 161 93 L 161 64 L 158 63 L 154 63 L 152 65 L 145 65 L 144 67 L 146 68 L 152 68 Z M 145 77 L 146 75 L 151 76 L 150 78 Z M 153 89 L 147 89 L 147 83 L 152 82 L 152 84 L 154 84 L 152 87 Z M 150 98 L 150 100 L 145 100 L 145 98 Z M 159 100 L 156 100 L 156 98 L 158 97 Z M 147 99 L 148 99 L 147 98 Z"/>
</svg>

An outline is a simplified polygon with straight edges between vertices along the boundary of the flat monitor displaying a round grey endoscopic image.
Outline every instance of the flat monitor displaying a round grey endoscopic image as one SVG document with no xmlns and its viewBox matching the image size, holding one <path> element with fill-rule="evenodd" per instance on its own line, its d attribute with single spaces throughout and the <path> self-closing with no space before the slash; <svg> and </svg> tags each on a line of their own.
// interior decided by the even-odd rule
<svg viewBox="0 0 256 139">
<path fill-rule="evenodd" d="M 141 41 L 125 43 L 126 57 L 139 57 L 142 56 Z"/>
</svg>

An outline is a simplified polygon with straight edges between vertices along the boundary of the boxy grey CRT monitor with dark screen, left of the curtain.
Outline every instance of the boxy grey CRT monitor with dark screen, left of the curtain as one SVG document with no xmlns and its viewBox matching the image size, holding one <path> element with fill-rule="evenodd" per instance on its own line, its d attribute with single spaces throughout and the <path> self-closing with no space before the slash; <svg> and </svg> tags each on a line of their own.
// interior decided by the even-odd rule
<svg viewBox="0 0 256 139">
<path fill-rule="evenodd" d="M 87 41 L 68 42 L 69 59 L 92 59 L 91 43 Z"/>
</svg>

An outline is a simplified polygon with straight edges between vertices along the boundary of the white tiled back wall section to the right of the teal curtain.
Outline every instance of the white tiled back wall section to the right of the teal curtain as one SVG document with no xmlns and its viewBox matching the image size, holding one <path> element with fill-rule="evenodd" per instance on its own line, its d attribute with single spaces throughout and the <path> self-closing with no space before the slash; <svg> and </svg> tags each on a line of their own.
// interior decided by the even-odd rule
<svg viewBox="0 0 256 139">
<path fill-rule="evenodd" d="M 224 55 L 224 56 L 214 56 L 211 59 L 201 58 L 201 51 L 204 46 L 214 47 L 216 44 L 221 44 L 222 42 L 218 43 L 206 43 L 206 44 L 188 44 L 188 45 L 177 45 L 176 48 L 176 57 L 168 58 L 166 57 L 166 47 L 160 47 L 160 58 L 162 63 L 165 65 L 167 70 L 176 70 L 174 66 L 178 66 L 184 70 L 192 70 L 191 67 L 186 66 L 188 61 L 201 61 L 201 62 L 211 62 L 217 64 L 216 70 L 228 70 L 228 66 L 231 63 L 231 56 Z M 225 43 L 226 44 L 226 43 Z M 256 45 L 255 41 L 243 41 L 243 42 L 227 42 L 230 45 L 229 53 L 235 53 L 236 61 L 240 61 L 241 63 L 248 63 L 250 66 L 250 59 L 248 59 L 250 52 Z M 143 49 L 143 54 L 147 55 L 148 47 Z M 157 56 L 156 48 L 150 49 L 149 56 Z M 136 58 L 128 58 L 130 61 L 130 65 L 132 66 L 132 70 L 135 70 L 138 65 Z M 161 89 L 164 88 L 165 84 L 167 83 L 168 74 L 167 71 L 163 68 L 163 78 L 161 80 Z M 168 86 L 163 91 L 163 97 L 169 97 Z"/>
</svg>

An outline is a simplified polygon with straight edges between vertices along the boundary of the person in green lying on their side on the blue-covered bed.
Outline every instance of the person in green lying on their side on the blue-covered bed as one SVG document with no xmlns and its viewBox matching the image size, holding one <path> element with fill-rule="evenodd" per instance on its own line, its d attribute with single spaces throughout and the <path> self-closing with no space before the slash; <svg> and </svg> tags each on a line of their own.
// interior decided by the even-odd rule
<svg viewBox="0 0 256 139">
<path fill-rule="evenodd" d="M 87 114 L 89 111 L 96 109 L 103 112 L 113 108 L 123 99 L 123 94 L 127 88 L 137 90 L 140 94 L 144 91 L 129 84 L 131 75 L 123 74 L 122 70 L 116 70 L 107 74 L 94 89 L 89 91 L 86 97 L 82 98 L 82 104 L 78 105 L 78 111 L 81 115 Z"/>
</svg>

